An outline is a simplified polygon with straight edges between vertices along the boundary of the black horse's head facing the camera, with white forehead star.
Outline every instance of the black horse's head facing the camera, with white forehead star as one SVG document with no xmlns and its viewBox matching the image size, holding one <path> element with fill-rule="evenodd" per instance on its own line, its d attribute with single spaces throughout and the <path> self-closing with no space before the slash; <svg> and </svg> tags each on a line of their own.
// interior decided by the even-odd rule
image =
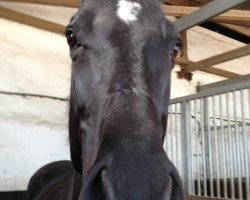
<svg viewBox="0 0 250 200">
<path fill-rule="evenodd" d="M 66 37 L 78 199 L 184 199 L 162 147 L 180 38 L 158 0 L 85 0 Z"/>
</svg>

